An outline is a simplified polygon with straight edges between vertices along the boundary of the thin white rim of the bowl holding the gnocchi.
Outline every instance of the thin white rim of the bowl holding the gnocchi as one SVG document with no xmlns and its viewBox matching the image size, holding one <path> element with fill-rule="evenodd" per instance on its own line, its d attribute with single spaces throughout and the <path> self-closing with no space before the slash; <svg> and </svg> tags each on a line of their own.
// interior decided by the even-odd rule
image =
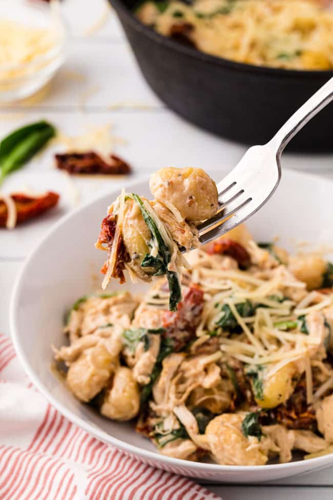
<svg viewBox="0 0 333 500">
<path fill-rule="evenodd" d="M 287 175 L 295 175 L 296 177 L 306 177 L 309 180 L 313 179 L 314 181 L 318 181 L 321 179 L 321 182 L 329 183 L 331 184 L 331 187 L 333 189 L 333 180 L 331 179 L 326 179 L 323 178 L 322 176 L 318 174 L 311 174 L 307 172 L 298 172 L 292 169 L 284 169 L 284 174 Z M 145 176 L 140 176 L 136 180 L 133 180 L 132 182 L 126 184 L 126 189 L 130 189 L 131 186 L 137 186 L 138 184 L 143 184 L 144 182 L 148 182 L 147 177 Z M 298 469 L 301 468 L 301 464 L 304 464 L 306 462 L 308 464 L 308 467 L 306 471 L 300 471 L 300 473 L 305 473 L 311 471 L 313 468 L 311 467 L 312 465 L 316 465 L 315 469 L 318 469 L 321 467 L 321 465 L 324 466 L 329 466 L 330 463 L 333 463 L 333 453 L 329 453 L 327 455 L 315 457 L 315 458 L 309 458 L 306 461 L 304 460 L 298 460 L 295 462 L 287 462 L 283 464 L 268 464 L 268 465 L 256 465 L 256 466 L 240 466 L 240 465 L 220 465 L 220 464 L 207 464 L 204 462 L 192 462 L 189 460 L 184 460 L 180 458 L 173 458 L 169 456 L 165 456 L 162 454 L 159 454 L 158 451 L 150 451 L 146 449 L 142 449 L 139 446 L 135 446 L 129 443 L 126 443 L 124 441 L 121 441 L 121 439 L 118 439 L 117 437 L 113 437 L 111 434 L 108 434 L 107 432 L 100 430 L 97 426 L 87 423 L 84 418 L 80 416 L 74 415 L 71 410 L 67 409 L 65 405 L 57 401 L 57 398 L 53 396 L 53 394 L 44 386 L 43 382 L 39 379 L 39 376 L 35 371 L 33 370 L 32 366 L 30 365 L 29 359 L 26 356 L 23 347 L 20 344 L 20 335 L 19 335 L 19 329 L 17 325 L 17 320 L 16 320 L 16 310 L 19 308 L 19 300 L 18 296 L 20 293 L 20 288 L 22 283 L 25 281 L 25 274 L 27 270 L 29 269 L 30 262 L 35 258 L 35 254 L 39 251 L 41 247 L 44 246 L 44 244 L 47 242 L 48 238 L 54 234 L 60 226 L 63 226 L 66 224 L 71 218 L 75 217 L 80 211 L 87 209 L 88 207 L 93 207 L 94 204 L 99 203 L 101 199 L 107 198 L 113 193 L 118 192 L 118 189 L 111 190 L 108 193 L 103 193 L 97 198 L 94 198 L 93 200 L 90 200 L 84 204 L 82 204 L 80 207 L 76 208 L 73 211 L 70 211 L 68 214 L 64 215 L 63 217 L 60 217 L 60 219 L 51 227 L 49 230 L 45 233 L 45 235 L 39 239 L 37 245 L 33 248 L 31 251 L 30 255 L 26 258 L 25 263 L 18 273 L 18 276 L 15 279 L 13 291 L 10 297 L 10 307 L 9 307 L 9 321 L 10 321 L 10 333 L 11 333 L 11 339 L 17 354 L 17 357 L 19 359 L 19 362 L 22 364 L 26 374 L 32 381 L 32 383 L 35 385 L 35 387 L 38 389 L 38 391 L 46 398 L 46 400 L 57 410 L 59 411 L 60 414 L 64 415 L 70 422 L 73 424 L 77 425 L 81 429 L 85 430 L 89 434 L 93 435 L 103 443 L 108 443 L 111 444 L 112 446 L 118 447 L 124 452 L 133 454 L 134 456 L 139 456 L 143 457 L 145 459 L 151 460 L 151 461 L 157 461 L 160 463 L 165 463 L 167 465 L 172 465 L 172 466 L 179 466 L 183 468 L 190 468 L 193 470 L 199 470 L 203 472 L 225 472 L 225 473 L 232 473 L 233 471 L 236 472 L 256 472 L 256 471 L 275 471 L 277 469 L 283 469 L 287 468 L 289 470 L 292 469 Z M 106 202 L 107 203 L 107 202 Z M 118 423 L 121 425 L 121 422 Z M 269 478 L 267 479 L 267 481 Z"/>
</svg>

